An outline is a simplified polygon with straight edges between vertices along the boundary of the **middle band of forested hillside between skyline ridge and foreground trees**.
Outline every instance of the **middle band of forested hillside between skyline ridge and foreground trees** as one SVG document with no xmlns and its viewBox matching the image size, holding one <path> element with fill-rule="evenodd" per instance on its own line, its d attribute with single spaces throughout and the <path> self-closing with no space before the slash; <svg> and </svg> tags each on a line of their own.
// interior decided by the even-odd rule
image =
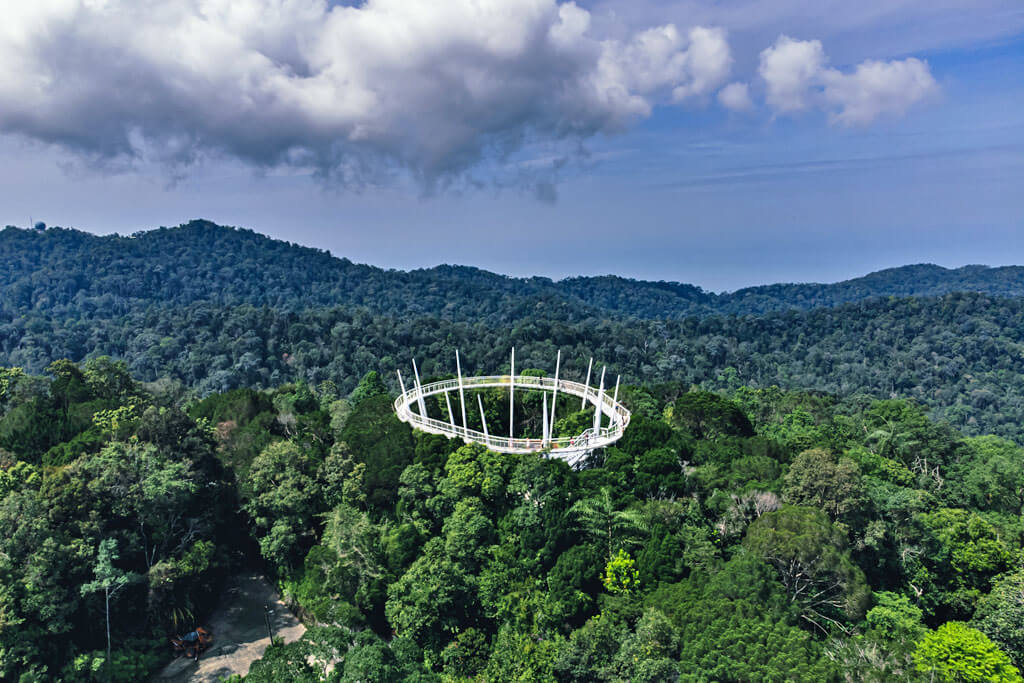
<svg viewBox="0 0 1024 683">
<path fill-rule="evenodd" d="M 709 389 L 778 385 L 843 396 L 908 397 L 968 434 L 1024 438 L 1024 299 L 950 294 L 868 300 L 838 308 L 761 316 L 564 322 L 452 323 L 374 315 L 335 306 L 289 311 L 201 303 L 151 306 L 113 318 L 19 315 L 0 322 L 0 361 L 41 372 L 56 358 L 124 358 L 144 381 L 205 395 L 291 381 L 354 388 L 377 370 L 396 388 L 395 369 L 416 357 L 425 372 L 553 370 L 558 348 L 583 379 L 590 356 L 628 381 L 677 381 Z"/>
</svg>

